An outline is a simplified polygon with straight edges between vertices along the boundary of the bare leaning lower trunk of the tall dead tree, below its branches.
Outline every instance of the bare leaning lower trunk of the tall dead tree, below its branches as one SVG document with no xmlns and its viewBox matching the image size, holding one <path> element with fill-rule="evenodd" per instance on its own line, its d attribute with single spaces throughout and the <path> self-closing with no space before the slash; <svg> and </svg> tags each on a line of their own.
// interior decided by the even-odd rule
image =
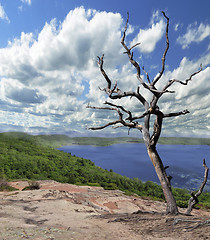
<svg viewBox="0 0 210 240">
<path fill-rule="evenodd" d="M 148 155 L 155 167 L 155 171 L 157 173 L 157 176 L 160 180 L 160 184 L 163 189 L 163 193 L 164 193 L 166 203 L 167 203 L 166 213 L 178 214 L 176 200 L 174 199 L 174 196 L 173 196 L 172 190 L 171 190 L 170 179 L 168 178 L 168 176 L 166 174 L 162 160 L 160 159 L 160 156 L 158 155 L 157 150 L 154 146 L 147 148 L 147 152 L 148 152 Z"/>
</svg>

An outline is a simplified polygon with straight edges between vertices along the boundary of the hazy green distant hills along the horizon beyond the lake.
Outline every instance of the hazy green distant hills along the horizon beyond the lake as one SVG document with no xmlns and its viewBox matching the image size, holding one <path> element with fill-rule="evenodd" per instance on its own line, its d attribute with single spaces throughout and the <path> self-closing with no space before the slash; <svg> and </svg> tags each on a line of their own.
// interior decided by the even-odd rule
<svg viewBox="0 0 210 240">
<path fill-rule="evenodd" d="M 120 143 L 144 143 L 142 138 L 134 137 L 68 137 L 66 135 L 49 134 L 49 135 L 29 135 L 22 132 L 0 133 L 0 139 L 4 137 L 19 140 L 28 140 L 41 146 L 59 148 L 67 145 L 94 145 L 109 146 Z M 180 145 L 210 145 L 210 138 L 188 138 L 188 137 L 162 137 L 159 144 L 180 144 Z"/>
</svg>

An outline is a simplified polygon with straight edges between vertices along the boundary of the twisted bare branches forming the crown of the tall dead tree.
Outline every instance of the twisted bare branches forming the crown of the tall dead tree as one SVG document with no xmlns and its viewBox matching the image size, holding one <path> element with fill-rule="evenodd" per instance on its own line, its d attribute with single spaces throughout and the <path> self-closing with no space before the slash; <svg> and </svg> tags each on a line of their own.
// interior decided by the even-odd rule
<svg viewBox="0 0 210 240">
<path fill-rule="evenodd" d="M 102 73 L 102 75 L 104 76 L 106 82 L 107 82 L 107 87 L 104 89 L 100 89 L 102 91 L 105 91 L 106 94 L 109 96 L 110 99 L 121 99 L 124 97 L 135 97 L 136 99 L 138 99 L 140 101 L 140 103 L 144 106 L 145 108 L 145 112 L 139 116 L 133 116 L 132 113 L 125 109 L 123 106 L 119 106 L 119 105 L 115 105 L 113 103 L 110 102 L 105 102 L 105 104 L 113 107 L 103 107 L 103 108 L 96 108 L 96 107 L 89 107 L 89 108 L 95 108 L 95 109 L 104 109 L 104 110 L 115 110 L 117 111 L 118 115 L 119 115 L 119 119 L 117 121 L 113 121 L 110 122 L 102 127 L 98 127 L 98 128 L 91 128 L 91 129 L 102 129 L 105 128 L 107 126 L 110 125 L 115 125 L 115 124 L 122 124 L 123 126 L 127 126 L 129 128 L 138 128 L 140 130 L 143 129 L 144 132 L 144 137 L 145 139 L 147 139 L 147 142 L 151 142 L 153 144 L 157 143 L 157 140 L 159 139 L 160 136 L 160 132 L 161 132 L 161 126 L 162 126 L 162 120 L 163 118 L 167 118 L 167 117 L 175 117 L 175 116 L 180 116 L 180 115 L 185 115 L 187 113 L 189 113 L 189 111 L 186 109 L 184 111 L 181 112 L 175 112 L 175 113 L 168 113 L 168 114 L 163 114 L 158 106 L 157 106 L 157 102 L 159 100 L 159 98 L 164 94 L 164 93 L 174 93 L 175 91 L 169 91 L 168 88 L 175 82 L 179 82 L 180 84 L 183 85 L 187 85 L 189 81 L 192 80 L 192 77 L 195 76 L 196 74 L 198 74 L 200 71 L 202 71 L 202 66 L 200 68 L 200 70 L 198 70 L 197 72 L 191 74 L 191 76 L 186 79 L 185 81 L 180 81 L 180 80 L 169 80 L 168 83 L 166 84 L 166 86 L 160 91 L 157 90 L 155 88 L 155 84 L 159 81 L 159 79 L 162 77 L 164 71 L 165 71 L 165 60 L 166 60 L 166 55 L 169 49 L 169 38 L 168 38 L 168 29 L 169 29 L 169 18 L 166 16 L 165 12 L 162 12 L 164 18 L 167 20 L 167 24 L 166 24 L 166 32 L 165 32 L 165 36 L 166 36 L 166 48 L 165 51 L 163 53 L 162 56 L 162 69 L 160 71 L 160 73 L 157 75 L 157 77 L 155 79 L 153 79 L 153 81 L 150 81 L 149 78 L 149 74 L 148 72 L 145 71 L 144 67 L 142 68 L 144 73 L 147 76 L 147 81 L 148 84 L 146 84 L 142 77 L 141 77 L 141 69 L 139 64 L 133 59 L 133 52 L 132 49 L 134 49 L 136 46 L 138 46 L 140 43 L 136 43 L 135 45 L 133 45 L 132 47 L 128 47 L 125 44 L 125 38 L 126 38 L 126 31 L 128 28 L 128 20 L 129 20 L 129 13 L 127 13 L 127 20 L 126 20 L 126 24 L 125 24 L 125 29 L 123 32 L 123 36 L 121 39 L 121 44 L 124 47 L 124 49 L 126 50 L 124 53 L 128 55 L 129 61 L 131 62 L 131 64 L 135 67 L 136 69 L 136 74 L 137 74 L 137 79 L 140 81 L 141 85 L 148 89 L 152 94 L 153 94 L 153 99 L 149 102 L 142 96 L 142 94 L 140 93 L 140 87 L 138 86 L 137 91 L 126 91 L 123 92 L 121 91 L 118 87 L 117 87 L 117 82 L 115 82 L 114 86 L 112 87 L 112 81 L 109 78 L 109 76 L 106 74 L 104 68 L 103 68 L 103 64 L 104 64 L 104 54 L 101 57 L 98 57 L 98 65 L 100 68 L 100 71 Z M 123 114 L 120 112 L 123 111 L 124 113 L 128 114 L 128 117 L 125 118 L 125 120 L 123 120 Z M 154 123 L 154 130 L 153 130 L 153 135 L 150 137 L 150 133 L 149 133 L 149 128 L 150 128 L 150 116 L 154 114 L 156 115 L 156 121 Z M 138 119 L 142 119 L 144 118 L 144 127 L 142 127 L 141 125 L 139 125 L 137 122 L 134 122 L 135 120 Z M 127 122 L 129 121 L 129 122 Z"/>
</svg>

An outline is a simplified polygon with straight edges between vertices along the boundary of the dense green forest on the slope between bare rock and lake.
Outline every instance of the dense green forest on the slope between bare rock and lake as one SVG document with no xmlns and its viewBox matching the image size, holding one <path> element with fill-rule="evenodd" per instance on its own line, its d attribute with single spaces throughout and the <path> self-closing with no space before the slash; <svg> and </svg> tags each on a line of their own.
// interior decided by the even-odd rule
<svg viewBox="0 0 210 240">
<path fill-rule="evenodd" d="M 91 160 L 56 149 L 66 142 L 70 142 L 69 138 L 65 139 L 63 135 L 32 136 L 25 133 L 1 133 L 0 181 L 52 179 L 63 183 L 120 189 L 126 194 L 135 193 L 145 198 L 164 201 L 161 186 L 158 184 L 121 176 L 112 169 L 95 166 Z M 187 207 L 189 191 L 173 188 L 173 193 L 178 206 Z M 199 203 L 196 206 L 209 209 L 210 193 L 204 192 L 199 196 Z"/>
</svg>

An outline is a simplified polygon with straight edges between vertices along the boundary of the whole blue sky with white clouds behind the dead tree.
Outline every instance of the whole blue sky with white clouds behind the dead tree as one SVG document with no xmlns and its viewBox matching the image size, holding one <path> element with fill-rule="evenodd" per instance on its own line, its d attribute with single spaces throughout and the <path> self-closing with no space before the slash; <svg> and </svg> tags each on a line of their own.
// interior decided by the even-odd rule
<svg viewBox="0 0 210 240">
<path fill-rule="evenodd" d="M 187 86 L 174 84 L 159 107 L 164 113 L 189 114 L 164 119 L 162 136 L 210 137 L 209 0 L 0 0 L 0 132 L 127 136 L 128 129 L 88 130 L 118 118 L 103 107 L 108 97 L 97 56 L 122 91 L 140 82 L 120 44 L 129 12 L 126 44 L 150 79 L 161 70 L 166 19 L 170 19 L 166 68 L 157 86 L 185 80 L 203 66 Z M 144 72 L 142 78 L 147 81 Z M 141 94 L 151 99 L 143 87 Z M 111 100 L 109 100 L 111 101 Z M 135 99 L 115 101 L 134 114 L 144 112 Z M 130 136 L 141 137 L 131 130 Z"/>
</svg>

